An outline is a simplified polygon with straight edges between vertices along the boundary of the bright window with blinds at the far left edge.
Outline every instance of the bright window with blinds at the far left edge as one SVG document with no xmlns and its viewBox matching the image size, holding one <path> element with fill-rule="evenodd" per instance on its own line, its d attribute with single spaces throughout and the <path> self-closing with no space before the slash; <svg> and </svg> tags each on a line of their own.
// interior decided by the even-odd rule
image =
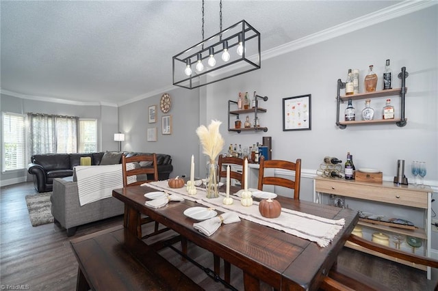
<svg viewBox="0 0 438 291">
<path fill-rule="evenodd" d="M 2 113 L 3 171 L 25 168 L 25 115 Z"/>
</svg>

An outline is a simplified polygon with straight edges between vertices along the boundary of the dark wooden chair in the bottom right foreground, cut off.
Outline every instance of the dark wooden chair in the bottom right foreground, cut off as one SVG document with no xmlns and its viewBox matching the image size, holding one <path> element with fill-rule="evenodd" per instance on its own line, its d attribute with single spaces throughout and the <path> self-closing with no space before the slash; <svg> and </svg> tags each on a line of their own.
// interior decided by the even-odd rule
<svg viewBox="0 0 438 291">
<path fill-rule="evenodd" d="M 420 264 L 423 266 L 430 266 L 432 268 L 438 268 L 438 260 L 433 258 L 424 257 L 422 255 L 415 255 L 413 253 L 407 253 L 398 249 L 385 247 L 384 245 L 378 245 L 365 240 L 355 234 L 350 234 L 348 240 L 351 243 L 360 245 L 361 247 L 373 251 L 374 253 L 382 253 L 389 255 L 393 258 L 405 262 L 411 262 L 413 264 Z M 321 286 L 321 290 L 391 290 L 388 286 L 384 286 L 382 283 L 373 280 L 371 277 L 363 275 L 357 271 L 353 271 L 350 268 L 339 266 L 336 262 L 329 271 L 329 274 L 324 277 Z M 438 283 L 433 290 L 438 290 Z"/>
</svg>

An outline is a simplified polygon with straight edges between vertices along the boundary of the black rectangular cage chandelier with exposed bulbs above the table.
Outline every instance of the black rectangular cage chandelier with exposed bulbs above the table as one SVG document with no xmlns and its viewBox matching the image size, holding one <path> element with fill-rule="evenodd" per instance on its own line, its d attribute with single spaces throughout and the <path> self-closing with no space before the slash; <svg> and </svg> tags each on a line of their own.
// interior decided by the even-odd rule
<svg viewBox="0 0 438 291">
<path fill-rule="evenodd" d="M 260 66 L 260 33 L 242 20 L 174 55 L 173 85 L 194 89 Z"/>
</svg>

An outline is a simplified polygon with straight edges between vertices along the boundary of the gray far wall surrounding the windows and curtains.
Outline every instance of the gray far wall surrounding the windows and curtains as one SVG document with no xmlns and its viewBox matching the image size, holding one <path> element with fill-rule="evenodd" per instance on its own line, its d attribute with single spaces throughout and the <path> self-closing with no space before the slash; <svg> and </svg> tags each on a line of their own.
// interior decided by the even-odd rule
<svg viewBox="0 0 438 291">
<path fill-rule="evenodd" d="M 34 112 L 78 116 L 81 118 L 95 118 L 99 122 L 99 149 L 103 151 L 118 149 L 118 144 L 113 140 L 114 133 L 118 132 L 118 109 L 115 106 L 62 104 L 60 102 L 47 102 L 1 94 L 0 110 L 21 114 Z M 3 122 L 3 120 L 1 122 Z M 0 127 L 3 128 L 3 126 Z M 0 138 L 2 137 L 3 133 L 0 135 Z M 27 171 L 25 170 L 0 173 L 1 186 L 24 182 L 25 180 L 27 180 Z"/>
</svg>

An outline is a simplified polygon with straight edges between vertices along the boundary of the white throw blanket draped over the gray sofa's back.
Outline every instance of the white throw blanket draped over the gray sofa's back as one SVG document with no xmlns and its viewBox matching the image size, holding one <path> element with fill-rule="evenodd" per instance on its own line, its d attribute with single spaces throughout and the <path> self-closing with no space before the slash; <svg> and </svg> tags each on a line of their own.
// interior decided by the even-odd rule
<svg viewBox="0 0 438 291">
<path fill-rule="evenodd" d="M 77 192 L 81 206 L 112 197 L 114 189 L 123 188 L 122 164 L 102 166 L 76 166 Z M 127 169 L 135 169 L 133 163 Z M 128 184 L 136 182 L 136 176 L 128 177 Z"/>
</svg>

